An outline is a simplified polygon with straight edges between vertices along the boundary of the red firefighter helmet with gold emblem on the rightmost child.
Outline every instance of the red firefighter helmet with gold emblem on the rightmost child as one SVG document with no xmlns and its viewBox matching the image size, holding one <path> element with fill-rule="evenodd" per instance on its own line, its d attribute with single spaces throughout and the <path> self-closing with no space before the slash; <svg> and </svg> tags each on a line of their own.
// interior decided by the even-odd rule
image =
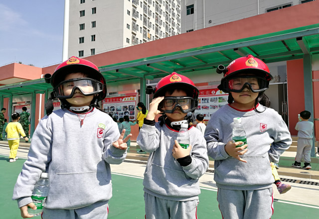
<svg viewBox="0 0 319 219">
<path fill-rule="evenodd" d="M 269 86 L 269 81 L 273 79 L 273 76 L 269 72 L 268 66 L 263 61 L 250 54 L 245 57 L 235 59 L 227 66 L 226 69 L 223 66 L 218 66 L 216 72 L 224 73 L 224 77 L 221 79 L 221 84 L 218 86 L 218 89 L 224 92 L 234 91 L 231 90 L 228 82 L 231 78 L 237 77 L 239 75 L 241 76 L 247 74 L 262 79 L 264 82 L 260 84 L 260 90 L 256 90 L 256 92 L 267 89 Z M 253 92 L 255 91 L 253 90 Z"/>
</svg>

